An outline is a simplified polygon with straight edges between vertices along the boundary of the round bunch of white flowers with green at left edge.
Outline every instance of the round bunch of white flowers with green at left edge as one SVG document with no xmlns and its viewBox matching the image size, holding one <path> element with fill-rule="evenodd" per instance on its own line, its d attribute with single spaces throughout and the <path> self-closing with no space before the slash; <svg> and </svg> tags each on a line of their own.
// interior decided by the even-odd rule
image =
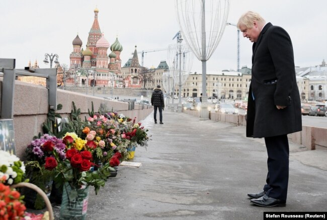
<svg viewBox="0 0 327 220">
<path fill-rule="evenodd" d="M 0 151 L 0 178 L 6 185 L 20 183 L 24 180 L 25 165 L 16 155 Z"/>
</svg>

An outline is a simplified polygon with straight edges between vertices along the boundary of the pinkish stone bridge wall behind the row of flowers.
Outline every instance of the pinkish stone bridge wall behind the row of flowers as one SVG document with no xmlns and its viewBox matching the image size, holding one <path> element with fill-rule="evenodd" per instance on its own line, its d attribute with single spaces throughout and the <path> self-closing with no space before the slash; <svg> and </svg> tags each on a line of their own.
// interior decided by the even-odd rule
<svg viewBox="0 0 327 220">
<path fill-rule="evenodd" d="M 2 93 L 2 78 L 0 78 L 0 93 Z M 6 94 L 1 94 L 1 97 Z M 84 120 L 88 117 L 88 109 L 92 109 L 92 102 L 94 104 L 94 111 L 98 112 L 101 104 L 105 105 L 108 111 L 117 111 L 118 114 L 134 118 L 136 121 L 141 121 L 147 117 L 152 111 L 152 106 L 135 104 L 134 109 L 128 110 L 128 102 L 113 101 L 105 98 L 85 95 L 81 93 L 66 91 L 62 89 L 57 90 L 57 103 L 62 104 L 63 107 L 56 113 L 63 118 L 69 118 L 72 101 L 74 101 L 77 108 L 80 108 L 80 118 Z M 14 131 L 16 154 L 18 157 L 24 155 L 26 146 L 31 142 L 32 138 L 42 131 L 42 123 L 46 121 L 49 102 L 48 89 L 31 83 L 15 81 L 14 91 Z"/>
</svg>

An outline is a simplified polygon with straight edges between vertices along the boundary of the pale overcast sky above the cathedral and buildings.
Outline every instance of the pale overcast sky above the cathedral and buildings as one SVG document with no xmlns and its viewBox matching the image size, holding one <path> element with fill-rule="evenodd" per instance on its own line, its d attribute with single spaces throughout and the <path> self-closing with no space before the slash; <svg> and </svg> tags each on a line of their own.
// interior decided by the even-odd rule
<svg viewBox="0 0 327 220">
<path fill-rule="evenodd" d="M 45 53 L 56 53 L 61 64 L 69 64 L 72 40 L 78 33 L 85 49 L 99 9 L 99 25 L 112 44 L 116 36 L 123 46 L 122 66 L 138 52 L 167 48 L 180 30 L 175 14 L 175 0 L 57 0 L 0 2 L 0 58 L 15 58 L 16 68 L 24 68 L 37 59 L 40 68 Z M 249 10 L 256 11 L 273 25 L 283 27 L 293 42 L 295 65 L 321 64 L 327 60 L 326 0 L 230 0 L 228 22 Z M 221 41 L 207 61 L 207 71 L 236 69 L 236 27 L 226 26 Z M 110 49 L 109 49 L 110 52 Z M 109 53 L 108 53 L 109 54 Z M 139 54 L 141 64 L 141 55 Z M 252 43 L 241 36 L 240 66 L 251 67 Z M 144 55 L 144 66 L 157 67 L 167 60 L 167 51 Z M 201 72 L 201 61 L 194 58 L 192 72 Z"/>
</svg>

